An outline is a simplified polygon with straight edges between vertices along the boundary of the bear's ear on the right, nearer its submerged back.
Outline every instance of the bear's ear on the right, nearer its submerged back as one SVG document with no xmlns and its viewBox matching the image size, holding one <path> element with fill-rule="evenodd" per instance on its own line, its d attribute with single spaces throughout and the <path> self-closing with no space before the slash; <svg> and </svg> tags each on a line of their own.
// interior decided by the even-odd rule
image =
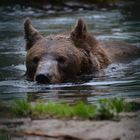
<svg viewBox="0 0 140 140">
<path fill-rule="evenodd" d="M 80 39 L 84 38 L 87 33 L 87 25 L 83 21 L 83 19 L 78 19 L 74 29 L 71 32 L 72 39 Z"/>
</svg>

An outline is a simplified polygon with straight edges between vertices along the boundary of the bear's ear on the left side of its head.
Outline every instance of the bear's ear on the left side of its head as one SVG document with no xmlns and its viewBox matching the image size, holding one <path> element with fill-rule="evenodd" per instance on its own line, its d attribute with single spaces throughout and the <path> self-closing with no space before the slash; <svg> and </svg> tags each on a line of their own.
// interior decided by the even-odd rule
<svg viewBox="0 0 140 140">
<path fill-rule="evenodd" d="M 24 37 L 26 40 L 26 50 L 28 51 L 39 39 L 43 38 L 42 35 L 32 26 L 30 18 L 24 22 Z"/>
</svg>

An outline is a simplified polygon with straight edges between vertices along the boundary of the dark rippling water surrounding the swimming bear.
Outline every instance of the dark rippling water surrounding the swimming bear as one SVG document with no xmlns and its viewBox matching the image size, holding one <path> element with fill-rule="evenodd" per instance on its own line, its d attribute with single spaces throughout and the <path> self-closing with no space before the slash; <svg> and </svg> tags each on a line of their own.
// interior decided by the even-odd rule
<svg viewBox="0 0 140 140">
<path fill-rule="evenodd" d="M 30 17 L 44 35 L 66 32 L 78 17 L 83 17 L 97 39 L 124 40 L 140 47 L 139 12 L 137 6 L 133 6 L 135 8 L 59 12 L 19 6 L 0 7 L 0 101 L 83 100 L 92 103 L 116 96 L 140 97 L 140 59 L 130 64 L 112 64 L 100 77 L 83 75 L 81 81 L 73 83 L 43 85 L 29 82 L 23 76 L 26 71 L 23 21 L 26 17 Z"/>
</svg>

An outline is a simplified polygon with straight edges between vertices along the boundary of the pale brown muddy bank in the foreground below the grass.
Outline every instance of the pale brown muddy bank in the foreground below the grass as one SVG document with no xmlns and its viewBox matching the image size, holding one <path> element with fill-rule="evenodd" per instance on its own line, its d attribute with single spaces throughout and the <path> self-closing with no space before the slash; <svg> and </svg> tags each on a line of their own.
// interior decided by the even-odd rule
<svg viewBox="0 0 140 140">
<path fill-rule="evenodd" d="M 140 99 L 134 103 L 135 111 L 120 114 L 116 121 L 1 119 L 0 134 L 11 140 L 139 140 Z"/>
</svg>

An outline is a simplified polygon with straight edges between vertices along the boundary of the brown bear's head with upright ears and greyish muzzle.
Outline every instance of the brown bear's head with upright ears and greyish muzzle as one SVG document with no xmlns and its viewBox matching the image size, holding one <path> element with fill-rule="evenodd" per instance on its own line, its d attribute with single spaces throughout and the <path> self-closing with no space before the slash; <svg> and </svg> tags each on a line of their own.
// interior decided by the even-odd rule
<svg viewBox="0 0 140 140">
<path fill-rule="evenodd" d="M 43 37 L 27 18 L 24 31 L 28 80 L 61 83 L 81 73 L 98 70 L 96 57 L 92 54 L 97 42 L 82 19 L 69 33 Z"/>
</svg>

